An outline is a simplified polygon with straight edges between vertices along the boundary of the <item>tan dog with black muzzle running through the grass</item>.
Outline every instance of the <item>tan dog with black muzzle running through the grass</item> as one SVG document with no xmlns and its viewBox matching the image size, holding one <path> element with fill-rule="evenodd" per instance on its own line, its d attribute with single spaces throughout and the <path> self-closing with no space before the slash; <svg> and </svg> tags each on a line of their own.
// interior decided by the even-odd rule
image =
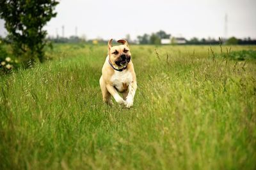
<svg viewBox="0 0 256 170">
<path fill-rule="evenodd" d="M 111 96 L 113 96 L 117 103 L 130 108 L 137 89 L 131 52 L 127 41 L 120 39 L 117 42 L 122 45 L 112 46 L 112 40 L 108 41 L 108 56 L 100 77 L 103 101 L 112 104 Z M 118 92 L 122 93 L 123 97 L 120 97 Z"/>
</svg>

